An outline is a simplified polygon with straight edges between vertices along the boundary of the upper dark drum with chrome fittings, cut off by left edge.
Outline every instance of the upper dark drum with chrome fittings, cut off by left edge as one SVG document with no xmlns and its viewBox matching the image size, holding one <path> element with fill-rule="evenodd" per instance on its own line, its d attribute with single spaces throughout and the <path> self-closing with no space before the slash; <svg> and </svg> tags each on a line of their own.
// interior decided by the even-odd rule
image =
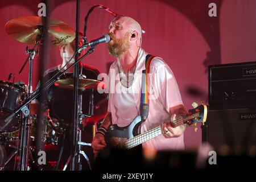
<svg viewBox="0 0 256 182">
<path fill-rule="evenodd" d="M 12 111 L 18 108 L 26 96 L 24 84 L 14 84 L 11 82 L 0 81 L 0 126 L 3 126 L 5 119 Z M 20 115 L 11 119 L 2 132 L 15 131 L 19 127 Z"/>
</svg>

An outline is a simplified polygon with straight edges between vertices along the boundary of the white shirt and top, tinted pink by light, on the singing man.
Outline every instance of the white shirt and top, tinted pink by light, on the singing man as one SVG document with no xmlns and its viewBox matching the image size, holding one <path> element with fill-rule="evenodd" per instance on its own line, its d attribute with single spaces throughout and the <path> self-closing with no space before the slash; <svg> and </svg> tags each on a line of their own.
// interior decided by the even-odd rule
<svg viewBox="0 0 256 182">
<path fill-rule="evenodd" d="M 131 94 L 120 93 L 117 61 L 109 69 L 109 103 L 108 111 L 112 113 L 112 123 L 119 127 L 129 125 L 140 112 L 141 106 L 141 80 L 142 70 L 145 69 L 147 53 L 140 48 L 133 85 L 130 86 Z M 176 105 L 183 105 L 179 88 L 170 67 L 160 57 L 154 57 L 150 64 L 150 104 L 146 121 L 141 125 L 141 133 L 160 126 L 170 119 L 169 109 Z M 121 98 L 121 96 L 124 96 Z M 130 100 L 130 102 L 128 101 Z M 125 113 L 125 114 L 124 114 Z M 123 114 L 123 115 L 122 115 Z M 131 119 L 130 122 L 127 119 Z M 182 150 L 184 149 L 183 134 L 176 138 L 165 138 L 159 135 L 142 144 L 143 147 L 156 150 Z"/>
</svg>

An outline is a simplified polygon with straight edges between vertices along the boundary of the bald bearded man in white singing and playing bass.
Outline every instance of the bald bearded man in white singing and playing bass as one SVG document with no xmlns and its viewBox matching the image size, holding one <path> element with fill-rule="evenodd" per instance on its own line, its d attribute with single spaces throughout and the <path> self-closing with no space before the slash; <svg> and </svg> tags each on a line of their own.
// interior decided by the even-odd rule
<svg viewBox="0 0 256 182">
<path fill-rule="evenodd" d="M 110 55 L 116 57 L 109 69 L 108 115 L 106 115 L 92 142 L 94 155 L 106 147 L 106 131 L 113 124 L 125 127 L 141 114 L 142 71 L 146 56 L 141 48 L 142 28 L 133 18 L 115 18 L 109 26 Z M 151 90 L 148 116 L 139 127 L 139 133 L 161 126 L 162 134 L 142 143 L 154 150 L 182 150 L 185 126 L 172 127 L 170 120 L 185 115 L 179 88 L 170 67 L 160 57 L 150 63 L 148 86 Z M 114 80 L 112 79 L 114 78 Z"/>
</svg>

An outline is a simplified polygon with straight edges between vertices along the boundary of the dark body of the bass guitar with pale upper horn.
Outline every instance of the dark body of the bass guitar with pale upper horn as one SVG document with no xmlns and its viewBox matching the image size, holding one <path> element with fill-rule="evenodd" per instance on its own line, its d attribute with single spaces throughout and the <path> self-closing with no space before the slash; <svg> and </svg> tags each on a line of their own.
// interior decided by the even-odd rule
<svg viewBox="0 0 256 182">
<path fill-rule="evenodd" d="M 141 125 L 141 116 L 138 115 L 130 125 L 126 127 L 118 127 L 112 125 L 108 129 L 106 134 L 106 142 L 114 148 L 125 148 L 123 144 L 127 139 L 134 138 L 137 136 L 139 126 Z"/>
</svg>

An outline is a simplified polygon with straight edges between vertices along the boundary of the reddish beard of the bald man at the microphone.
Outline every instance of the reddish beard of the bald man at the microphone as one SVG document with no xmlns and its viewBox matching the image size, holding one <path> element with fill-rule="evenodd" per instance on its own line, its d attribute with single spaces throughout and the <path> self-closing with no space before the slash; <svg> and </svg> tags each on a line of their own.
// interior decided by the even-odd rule
<svg viewBox="0 0 256 182">
<path fill-rule="evenodd" d="M 118 57 L 130 48 L 129 32 L 125 34 L 125 38 L 123 39 L 116 39 L 113 34 L 110 34 L 110 38 L 113 40 L 112 43 L 110 42 L 108 43 L 108 49 L 109 49 L 110 55 Z"/>
</svg>

